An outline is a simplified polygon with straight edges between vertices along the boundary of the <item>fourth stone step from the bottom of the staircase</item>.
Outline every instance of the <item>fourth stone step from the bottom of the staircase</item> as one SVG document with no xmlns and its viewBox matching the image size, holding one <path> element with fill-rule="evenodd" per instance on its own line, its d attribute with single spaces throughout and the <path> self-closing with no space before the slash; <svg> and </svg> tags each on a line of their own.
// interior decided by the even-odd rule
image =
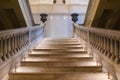
<svg viewBox="0 0 120 80">
<path fill-rule="evenodd" d="M 23 61 L 40 61 L 40 62 L 77 62 L 77 61 L 93 61 L 93 57 L 25 57 Z"/>
</svg>

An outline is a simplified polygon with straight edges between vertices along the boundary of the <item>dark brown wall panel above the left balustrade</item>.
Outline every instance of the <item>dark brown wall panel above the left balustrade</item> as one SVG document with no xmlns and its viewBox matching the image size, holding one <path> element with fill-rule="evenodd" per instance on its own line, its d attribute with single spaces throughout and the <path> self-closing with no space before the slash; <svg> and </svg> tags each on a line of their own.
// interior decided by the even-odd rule
<svg viewBox="0 0 120 80">
<path fill-rule="evenodd" d="M 18 0 L 0 0 L 0 30 L 26 27 Z"/>
</svg>

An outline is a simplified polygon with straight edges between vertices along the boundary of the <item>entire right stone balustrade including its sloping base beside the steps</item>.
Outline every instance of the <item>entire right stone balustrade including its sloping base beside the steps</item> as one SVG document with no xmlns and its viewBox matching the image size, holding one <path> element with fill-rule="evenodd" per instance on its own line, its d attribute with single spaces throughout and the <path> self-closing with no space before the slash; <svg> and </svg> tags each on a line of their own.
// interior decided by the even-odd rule
<svg viewBox="0 0 120 80">
<path fill-rule="evenodd" d="M 105 65 L 108 72 L 120 79 L 118 69 L 120 64 L 120 32 L 74 24 L 74 33 L 84 42 L 92 54 L 97 54 L 100 57 L 98 61 L 103 66 Z"/>
</svg>

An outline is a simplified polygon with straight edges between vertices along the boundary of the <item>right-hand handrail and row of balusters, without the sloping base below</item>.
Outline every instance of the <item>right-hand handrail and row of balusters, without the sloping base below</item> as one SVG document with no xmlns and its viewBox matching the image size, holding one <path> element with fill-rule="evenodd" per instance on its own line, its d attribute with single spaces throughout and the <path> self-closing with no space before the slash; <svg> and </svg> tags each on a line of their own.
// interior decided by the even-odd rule
<svg viewBox="0 0 120 80">
<path fill-rule="evenodd" d="M 84 40 L 87 46 L 99 51 L 120 64 L 120 32 L 74 25 L 75 35 Z"/>
</svg>

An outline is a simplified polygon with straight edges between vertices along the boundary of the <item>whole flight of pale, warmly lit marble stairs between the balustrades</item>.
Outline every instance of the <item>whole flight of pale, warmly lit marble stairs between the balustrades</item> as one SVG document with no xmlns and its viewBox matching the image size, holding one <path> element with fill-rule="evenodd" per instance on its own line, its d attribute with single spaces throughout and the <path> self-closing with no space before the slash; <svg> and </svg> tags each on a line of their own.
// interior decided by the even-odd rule
<svg viewBox="0 0 120 80">
<path fill-rule="evenodd" d="M 110 79 L 77 39 L 45 38 L 10 71 L 9 80 Z"/>
</svg>

